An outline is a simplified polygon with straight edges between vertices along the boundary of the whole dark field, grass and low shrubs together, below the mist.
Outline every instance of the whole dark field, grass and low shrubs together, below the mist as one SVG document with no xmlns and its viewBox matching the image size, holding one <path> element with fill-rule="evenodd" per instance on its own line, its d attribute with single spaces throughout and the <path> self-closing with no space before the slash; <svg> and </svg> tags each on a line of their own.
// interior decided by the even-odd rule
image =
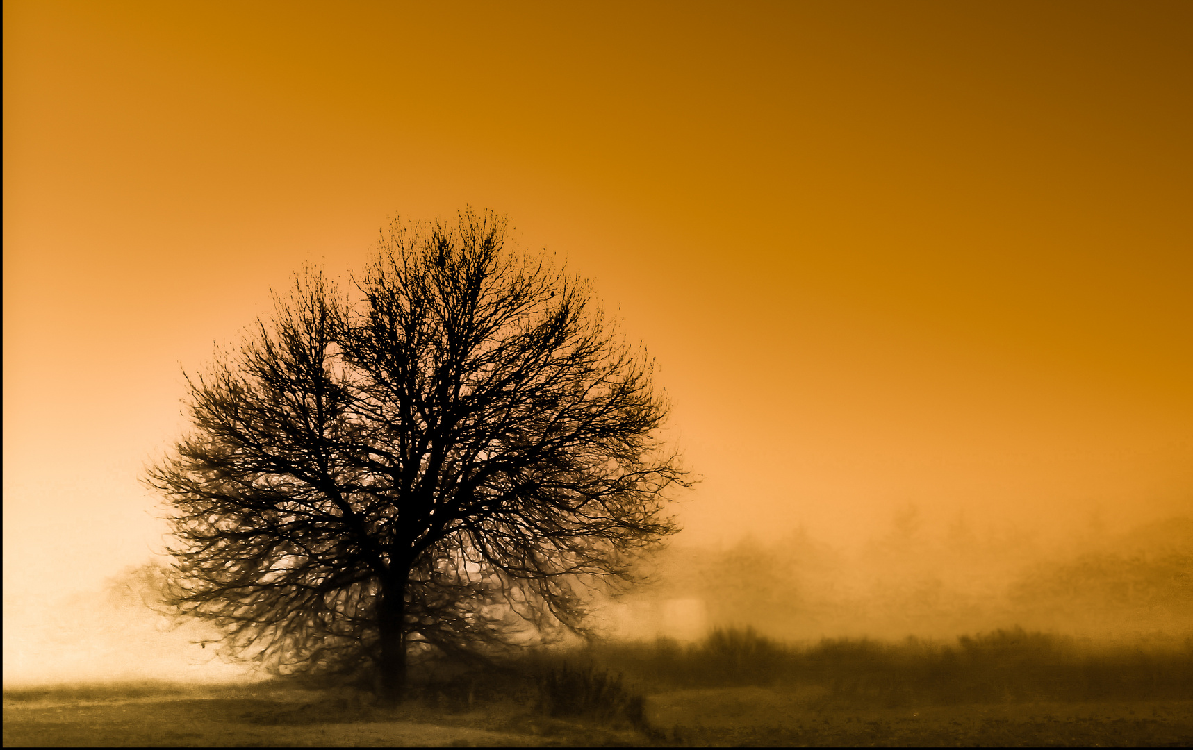
<svg viewBox="0 0 1193 750">
<path fill-rule="evenodd" d="M 395 709 L 286 681 L 6 689 L 4 744 L 1188 746 L 1191 657 L 1021 631 L 804 649 L 730 632 L 532 655 Z"/>
</svg>

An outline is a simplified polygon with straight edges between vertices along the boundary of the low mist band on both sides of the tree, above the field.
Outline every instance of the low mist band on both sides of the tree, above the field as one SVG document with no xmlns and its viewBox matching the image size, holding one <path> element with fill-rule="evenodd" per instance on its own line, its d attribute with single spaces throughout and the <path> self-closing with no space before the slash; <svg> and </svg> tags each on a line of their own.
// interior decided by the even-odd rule
<svg viewBox="0 0 1193 750">
<path fill-rule="evenodd" d="M 717 628 L 793 644 L 953 643 L 1015 627 L 1094 644 L 1193 638 L 1193 517 L 1118 532 L 1095 520 L 1061 543 L 964 516 L 929 521 L 907 506 L 885 534 L 853 550 L 804 529 L 721 545 L 686 544 L 680 534 L 647 566 L 648 582 L 600 607 L 594 621 L 607 640 L 630 643 L 694 643 Z M 5 686 L 262 676 L 199 645 L 217 636 L 209 626 L 157 614 L 159 585 L 160 570 L 147 563 L 103 590 L 6 597 Z"/>
</svg>

